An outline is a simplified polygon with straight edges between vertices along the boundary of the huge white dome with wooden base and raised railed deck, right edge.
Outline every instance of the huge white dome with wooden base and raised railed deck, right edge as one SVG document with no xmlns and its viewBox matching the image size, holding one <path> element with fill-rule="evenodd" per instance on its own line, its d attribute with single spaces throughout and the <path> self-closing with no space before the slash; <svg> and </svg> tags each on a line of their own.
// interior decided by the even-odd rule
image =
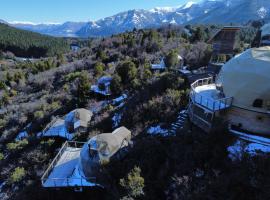
<svg viewBox="0 0 270 200">
<path fill-rule="evenodd" d="M 270 134 L 270 47 L 248 49 L 228 61 L 213 78 L 191 84 L 190 120 L 206 132 L 217 119 L 231 130 Z"/>
</svg>

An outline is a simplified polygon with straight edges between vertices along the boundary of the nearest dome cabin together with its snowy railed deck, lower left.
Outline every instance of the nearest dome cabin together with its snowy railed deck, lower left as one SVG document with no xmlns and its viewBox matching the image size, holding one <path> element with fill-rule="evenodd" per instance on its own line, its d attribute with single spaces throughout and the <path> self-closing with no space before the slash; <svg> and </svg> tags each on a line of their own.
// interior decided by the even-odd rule
<svg viewBox="0 0 270 200">
<path fill-rule="evenodd" d="M 120 127 L 112 133 L 92 137 L 88 142 L 65 142 L 44 172 L 44 188 L 102 187 L 102 165 L 122 158 L 131 144 L 131 132 Z"/>
</svg>

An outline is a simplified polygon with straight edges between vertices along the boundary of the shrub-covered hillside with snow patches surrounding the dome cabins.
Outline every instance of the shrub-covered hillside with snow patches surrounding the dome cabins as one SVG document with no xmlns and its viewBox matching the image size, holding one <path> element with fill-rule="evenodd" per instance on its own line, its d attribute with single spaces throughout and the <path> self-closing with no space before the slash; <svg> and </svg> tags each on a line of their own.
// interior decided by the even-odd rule
<svg viewBox="0 0 270 200">
<path fill-rule="evenodd" d="M 246 195 L 267 199 L 269 159 L 258 155 L 232 161 L 227 147 L 235 138 L 222 125 L 206 135 L 186 120 L 175 136 L 149 133 L 153 127 L 170 129 L 188 105 L 190 84 L 175 70 L 178 55 L 189 69 L 206 66 L 212 51 L 206 41 L 217 28 L 141 29 L 89 40 L 78 52 L 62 58 L 23 62 L 0 58 L 0 199 L 193 200 L 245 199 Z M 239 51 L 254 37 L 248 31 L 242 35 Z M 168 69 L 153 71 L 151 64 L 163 57 Z M 112 93 L 106 97 L 90 91 L 103 76 L 112 77 Z M 114 104 L 123 94 L 127 99 Z M 85 142 L 119 126 L 132 132 L 134 147 L 126 157 L 104 163 L 104 179 L 110 186 L 106 190 L 78 193 L 41 187 L 42 174 L 65 140 L 40 137 L 40 133 L 76 108 L 90 110 L 94 116 L 87 132 L 74 133 L 75 141 Z M 137 173 L 130 176 L 133 169 Z M 120 181 L 125 177 L 131 177 L 131 182 Z M 134 179 L 143 179 L 143 184 L 134 185 Z M 143 191 L 139 196 L 134 194 L 137 187 Z"/>
</svg>

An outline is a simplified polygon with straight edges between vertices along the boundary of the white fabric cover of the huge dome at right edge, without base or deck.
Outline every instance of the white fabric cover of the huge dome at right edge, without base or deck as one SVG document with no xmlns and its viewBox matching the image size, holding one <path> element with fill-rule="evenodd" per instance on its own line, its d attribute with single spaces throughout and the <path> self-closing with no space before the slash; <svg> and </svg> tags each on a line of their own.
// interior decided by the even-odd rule
<svg viewBox="0 0 270 200">
<path fill-rule="evenodd" d="M 248 49 L 227 62 L 216 84 L 226 97 L 233 97 L 233 105 L 258 110 L 255 99 L 270 100 L 270 47 Z M 262 111 L 261 109 L 259 109 Z"/>
</svg>

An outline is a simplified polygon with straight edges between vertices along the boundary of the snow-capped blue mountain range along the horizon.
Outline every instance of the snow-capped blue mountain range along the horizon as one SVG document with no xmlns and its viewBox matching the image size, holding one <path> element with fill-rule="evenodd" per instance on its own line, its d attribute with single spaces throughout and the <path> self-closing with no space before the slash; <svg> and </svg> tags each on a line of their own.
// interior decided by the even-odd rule
<svg viewBox="0 0 270 200">
<path fill-rule="evenodd" d="M 204 0 L 179 7 L 151 10 L 128 10 L 90 22 L 63 24 L 9 23 L 16 28 L 64 37 L 100 37 L 129 31 L 174 24 L 244 24 L 250 20 L 269 20 L 269 0 Z M 1 21 L 0 21 L 1 22 Z M 6 23 L 2 21 L 2 23 Z"/>
</svg>

